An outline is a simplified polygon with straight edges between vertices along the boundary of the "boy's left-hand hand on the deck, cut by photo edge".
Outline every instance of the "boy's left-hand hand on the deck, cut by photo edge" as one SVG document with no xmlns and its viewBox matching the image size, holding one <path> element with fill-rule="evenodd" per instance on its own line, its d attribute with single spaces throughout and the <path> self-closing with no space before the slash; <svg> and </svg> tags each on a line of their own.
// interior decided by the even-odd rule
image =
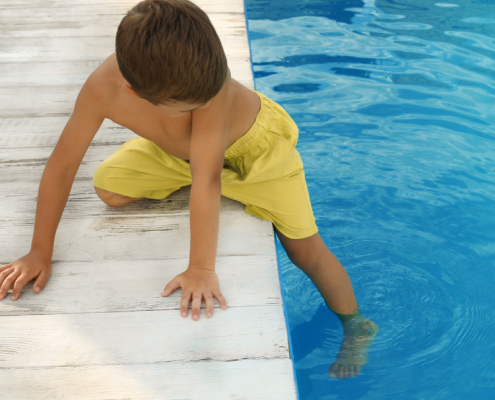
<svg viewBox="0 0 495 400">
<path fill-rule="evenodd" d="M 34 278 L 38 279 L 34 282 L 33 289 L 39 293 L 45 286 L 51 271 L 51 261 L 34 252 L 10 264 L 0 266 L 0 300 L 4 298 L 11 286 L 13 286 L 11 299 L 17 300 L 22 287 Z"/>
</svg>

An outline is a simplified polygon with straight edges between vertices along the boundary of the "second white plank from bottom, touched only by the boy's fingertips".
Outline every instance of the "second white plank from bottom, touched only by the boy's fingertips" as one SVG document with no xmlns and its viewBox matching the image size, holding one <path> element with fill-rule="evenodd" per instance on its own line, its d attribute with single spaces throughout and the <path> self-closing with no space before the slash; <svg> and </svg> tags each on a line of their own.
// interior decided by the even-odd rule
<svg viewBox="0 0 495 400">
<path fill-rule="evenodd" d="M 3 316 L 0 368 L 289 357 L 282 307 Z"/>
</svg>

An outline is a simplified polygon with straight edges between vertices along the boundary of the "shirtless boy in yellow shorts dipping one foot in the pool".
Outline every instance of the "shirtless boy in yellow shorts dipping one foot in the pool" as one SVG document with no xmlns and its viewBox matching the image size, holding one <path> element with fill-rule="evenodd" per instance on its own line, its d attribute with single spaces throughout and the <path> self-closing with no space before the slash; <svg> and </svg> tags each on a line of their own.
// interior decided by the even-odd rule
<svg viewBox="0 0 495 400">
<path fill-rule="evenodd" d="M 87 79 L 40 182 L 31 251 L 0 267 L 0 300 L 12 300 L 51 272 L 55 231 L 74 176 L 103 120 L 139 137 L 122 145 L 96 170 L 96 194 L 113 207 L 164 199 L 191 185 L 191 248 L 186 271 L 162 293 L 182 288 L 181 315 L 226 308 L 215 273 L 220 194 L 273 223 L 290 259 L 315 283 L 341 319 L 344 341 L 330 376 L 349 378 L 367 362 L 378 326 L 358 310 L 349 277 L 323 243 L 315 224 L 298 128 L 285 110 L 230 76 L 208 16 L 188 0 L 146 0 L 122 19 L 116 52 Z M 191 299 L 192 298 L 192 299 Z"/>
</svg>

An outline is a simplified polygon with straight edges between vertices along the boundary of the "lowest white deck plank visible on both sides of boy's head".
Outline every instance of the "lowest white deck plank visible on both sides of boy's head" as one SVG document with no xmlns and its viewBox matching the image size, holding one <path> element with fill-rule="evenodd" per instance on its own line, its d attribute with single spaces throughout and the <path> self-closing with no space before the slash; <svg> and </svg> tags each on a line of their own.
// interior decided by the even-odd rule
<svg viewBox="0 0 495 400">
<path fill-rule="evenodd" d="M 109 54 L 108 54 L 109 55 Z M 108 56 L 107 55 L 107 56 Z M 101 60 L 0 62 L 0 87 L 15 86 L 82 86 L 88 76 L 103 62 Z M 232 77 L 254 89 L 249 54 L 227 57 Z M 38 91 L 38 88 L 35 89 Z M 45 89 L 47 90 L 47 89 Z M 15 96 L 15 94 L 14 94 Z M 34 96 L 34 94 L 32 95 Z M 23 98 L 24 99 L 24 98 Z M 17 100 L 22 104 L 22 99 Z M 29 114 L 29 110 L 26 110 Z"/>
</svg>

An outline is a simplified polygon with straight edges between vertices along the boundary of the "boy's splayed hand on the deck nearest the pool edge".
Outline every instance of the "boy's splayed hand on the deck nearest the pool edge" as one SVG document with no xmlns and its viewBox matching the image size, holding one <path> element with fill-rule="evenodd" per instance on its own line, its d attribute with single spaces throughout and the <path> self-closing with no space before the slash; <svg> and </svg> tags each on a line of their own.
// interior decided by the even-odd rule
<svg viewBox="0 0 495 400">
<path fill-rule="evenodd" d="M 227 308 L 227 303 L 220 292 L 218 276 L 215 271 L 189 266 L 182 274 L 177 275 L 165 286 L 162 296 L 168 296 L 175 289 L 182 288 L 182 300 L 180 302 L 180 312 L 183 317 L 187 317 L 189 301 L 192 295 L 192 318 L 199 320 L 199 309 L 201 300 L 204 297 L 206 302 L 205 315 L 211 318 L 213 315 L 213 296 L 221 304 L 222 309 Z"/>
</svg>

